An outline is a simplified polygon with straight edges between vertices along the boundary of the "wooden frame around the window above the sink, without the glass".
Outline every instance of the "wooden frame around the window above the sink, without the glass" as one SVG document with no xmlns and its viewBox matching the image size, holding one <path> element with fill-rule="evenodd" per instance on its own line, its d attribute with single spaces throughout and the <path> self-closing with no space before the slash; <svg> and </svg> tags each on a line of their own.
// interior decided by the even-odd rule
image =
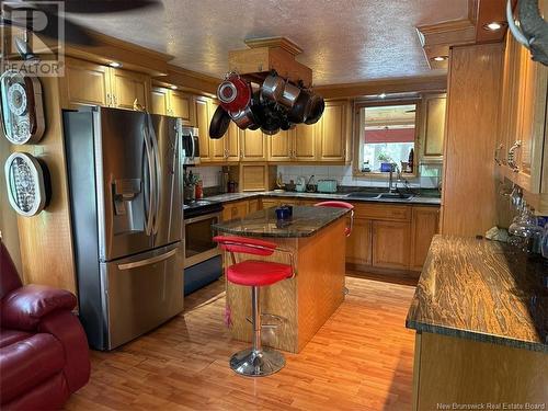
<svg viewBox="0 0 548 411">
<path fill-rule="evenodd" d="M 361 144 L 361 111 L 365 107 L 377 107 L 383 105 L 415 105 L 415 116 L 414 116 L 414 141 L 413 141 L 413 172 L 401 173 L 406 179 L 415 179 L 419 176 L 419 146 L 421 137 L 421 118 L 422 118 L 422 99 L 420 96 L 412 99 L 383 99 L 383 100 L 356 100 L 354 102 L 354 156 L 352 159 L 352 175 L 356 179 L 377 179 L 377 180 L 388 180 L 388 172 L 364 172 L 361 170 L 359 164 L 363 158 L 363 145 Z"/>
</svg>

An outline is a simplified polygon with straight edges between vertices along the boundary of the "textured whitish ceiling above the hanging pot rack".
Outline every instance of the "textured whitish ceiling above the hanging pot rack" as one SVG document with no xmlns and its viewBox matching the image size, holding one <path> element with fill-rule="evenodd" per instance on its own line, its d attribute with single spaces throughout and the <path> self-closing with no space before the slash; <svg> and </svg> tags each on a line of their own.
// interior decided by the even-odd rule
<svg viewBox="0 0 548 411">
<path fill-rule="evenodd" d="M 468 0 L 163 0 L 164 8 L 78 16 L 101 33 L 165 52 L 221 77 L 246 38 L 285 36 L 316 84 L 444 73 L 430 70 L 415 26 L 464 19 Z"/>
</svg>

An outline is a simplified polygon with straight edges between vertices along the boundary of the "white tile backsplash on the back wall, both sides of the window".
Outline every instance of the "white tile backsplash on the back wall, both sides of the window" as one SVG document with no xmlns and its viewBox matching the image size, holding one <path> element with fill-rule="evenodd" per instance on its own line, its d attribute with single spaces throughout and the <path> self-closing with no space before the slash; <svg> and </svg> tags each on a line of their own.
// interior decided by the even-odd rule
<svg viewBox="0 0 548 411">
<path fill-rule="evenodd" d="M 388 181 L 379 179 L 354 178 L 352 165 L 278 165 L 277 172 L 282 173 L 284 183 L 289 180 L 297 181 L 299 175 L 315 180 L 333 179 L 339 185 L 350 186 L 388 186 Z M 407 179 L 411 186 L 422 189 L 436 189 L 442 179 L 442 164 L 421 164 L 420 176 Z"/>
</svg>

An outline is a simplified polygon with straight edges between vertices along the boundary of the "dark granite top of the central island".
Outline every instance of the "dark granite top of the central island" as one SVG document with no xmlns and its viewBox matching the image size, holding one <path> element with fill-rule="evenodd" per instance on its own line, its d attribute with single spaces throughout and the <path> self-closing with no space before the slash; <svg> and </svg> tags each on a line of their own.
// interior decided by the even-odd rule
<svg viewBox="0 0 548 411">
<path fill-rule="evenodd" d="M 295 206 L 289 224 L 278 227 L 275 209 L 276 207 L 262 209 L 212 227 L 218 232 L 244 237 L 311 237 L 349 213 L 345 208 Z"/>
</svg>

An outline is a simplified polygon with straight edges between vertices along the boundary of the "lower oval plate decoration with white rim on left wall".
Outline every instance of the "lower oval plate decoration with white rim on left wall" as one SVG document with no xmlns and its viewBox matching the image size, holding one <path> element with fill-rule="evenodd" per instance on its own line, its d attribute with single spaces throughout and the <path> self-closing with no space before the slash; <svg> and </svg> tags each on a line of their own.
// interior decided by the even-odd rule
<svg viewBox="0 0 548 411">
<path fill-rule="evenodd" d="M 44 174 L 47 170 L 33 156 L 14 152 L 4 165 L 8 199 L 15 212 L 32 217 L 44 209 L 47 193 Z"/>
</svg>

